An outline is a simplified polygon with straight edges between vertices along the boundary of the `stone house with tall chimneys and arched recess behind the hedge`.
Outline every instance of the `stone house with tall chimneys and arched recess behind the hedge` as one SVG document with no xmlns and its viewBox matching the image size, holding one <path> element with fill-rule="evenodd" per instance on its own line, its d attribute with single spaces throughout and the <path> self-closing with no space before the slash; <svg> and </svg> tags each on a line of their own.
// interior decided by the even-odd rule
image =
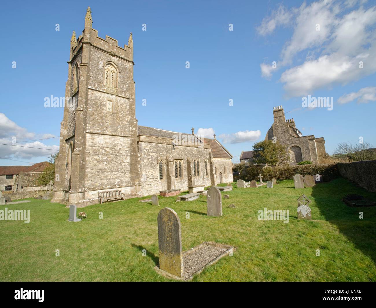
<svg viewBox="0 0 376 308">
<path fill-rule="evenodd" d="M 285 119 L 285 112 L 281 106 L 273 108 L 274 122 L 268 130 L 265 140 L 276 140 L 286 146 L 290 164 L 296 165 L 301 161 L 320 163 L 325 156 L 325 140 L 314 135 L 303 136 L 295 126 L 294 119 Z"/>
</svg>

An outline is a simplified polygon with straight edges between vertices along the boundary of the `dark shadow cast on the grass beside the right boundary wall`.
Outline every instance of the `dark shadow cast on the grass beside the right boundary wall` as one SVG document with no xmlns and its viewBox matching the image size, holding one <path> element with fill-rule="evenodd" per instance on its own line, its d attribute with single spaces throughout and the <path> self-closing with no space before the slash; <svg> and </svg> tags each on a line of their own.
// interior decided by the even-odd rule
<svg viewBox="0 0 376 308">
<path fill-rule="evenodd" d="M 318 183 L 312 187 L 312 197 L 325 220 L 336 225 L 357 249 L 376 263 L 376 207 L 347 206 L 342 201 L 347 194 L 361 194 L 376 201 L 375 193 L 344 178 Z M 359 218 L 359 212 L 363 212 L 363 219 Z"/>
</svg>

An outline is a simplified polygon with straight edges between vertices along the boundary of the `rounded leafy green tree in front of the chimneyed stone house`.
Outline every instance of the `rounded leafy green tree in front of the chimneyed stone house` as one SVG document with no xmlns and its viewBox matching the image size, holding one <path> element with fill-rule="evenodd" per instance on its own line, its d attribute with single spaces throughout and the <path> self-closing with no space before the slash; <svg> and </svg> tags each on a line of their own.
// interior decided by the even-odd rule
<svg viewBox="0 0 376 308">
<path fill-rule="evenodd" d="M 258 164 L 279 166 L 287 160 L 286 146 L 278 141 L 259 141 L 253 145 L 253 161 Z"/>
</svg>

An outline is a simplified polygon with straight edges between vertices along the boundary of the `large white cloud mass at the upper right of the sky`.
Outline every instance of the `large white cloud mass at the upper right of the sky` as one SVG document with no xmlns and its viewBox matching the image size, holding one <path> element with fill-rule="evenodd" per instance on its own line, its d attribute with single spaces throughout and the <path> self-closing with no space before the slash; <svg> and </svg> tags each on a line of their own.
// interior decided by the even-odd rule
<svg viewBox="0 0 376 308">
<path fill-rule="evenodd" d="M 317 1 L 288 11 L 294 29 L 281 50 L 279 68 L 305 59 L 281 74 L 279 81 L 288 96 L 312 95 L 319 88 L 345 85 L 376 72 L 376 6 L 364 9 L 363 2 L 349 0 L 343 5 L 340 1 Z M 271 18 L 264 18 L 263 23 Z M 363 68 L 359 61 L 363 61 Z M 271 77 L 265 64 L 261 64 L 261 75 Z"/>
</svg>

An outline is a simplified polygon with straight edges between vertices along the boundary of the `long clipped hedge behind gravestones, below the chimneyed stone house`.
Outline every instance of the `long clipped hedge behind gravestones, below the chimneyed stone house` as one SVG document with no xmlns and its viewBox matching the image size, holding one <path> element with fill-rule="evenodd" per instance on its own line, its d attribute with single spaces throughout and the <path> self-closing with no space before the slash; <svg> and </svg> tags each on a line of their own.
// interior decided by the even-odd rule
<svg viewBox="0 0 376 308">
<path fill-rule="evenodd" d="M 292 180 L 294 175 L 299 173 L 302 176 L 306 174 L 322 174 L 326 176 L 338 176 L 337 166 L 335 164 L 326 165 L 294 165 L 283 167 L 249 167 L 246 170 L 247 181 L 259 181 L 258 175 L 261 173 L 263 181 L 271 181 L 275 178 L 277 181 Z"/>
</svg>

